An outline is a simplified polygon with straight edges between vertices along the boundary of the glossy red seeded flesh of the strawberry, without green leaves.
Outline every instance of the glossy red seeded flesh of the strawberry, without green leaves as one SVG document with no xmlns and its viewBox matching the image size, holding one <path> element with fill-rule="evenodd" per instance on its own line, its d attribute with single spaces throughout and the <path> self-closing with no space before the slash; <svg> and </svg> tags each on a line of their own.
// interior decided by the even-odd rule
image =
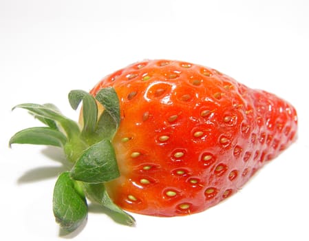
<svg viewBox="0 0 309 241">
<path fill-rule="evenodd" d="M 103 78 L 91 93 L 107 86 L 120 98 L 122 118 L 113 140 L 121 176 L 107 189 L 128 211 L 203 211 L 295 140 L 292 105 L 209 67 L 143 61 Z"/>
</svg>

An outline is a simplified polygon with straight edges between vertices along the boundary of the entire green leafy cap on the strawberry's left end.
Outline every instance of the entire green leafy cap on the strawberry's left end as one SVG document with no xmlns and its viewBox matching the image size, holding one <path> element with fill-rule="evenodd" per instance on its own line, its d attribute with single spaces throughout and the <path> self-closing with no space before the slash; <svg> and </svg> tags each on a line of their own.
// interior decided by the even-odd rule
<svg viewBox="0 0 309 241">
<path fill-rule="evenodd" d="M 25 103 L 13 109 L 27 109 L 46 127 L 31 127 L 10 138 L 12 144 L 52 145 L 62 147 L 71 170 L 58 176 L 53 194 L 53 211 L 62 229 L 72 232 L 87 218 L 87 199 L 111 210 L 122 224 L 135 220 L 112 202 L 105 182 L 120 176 L 111 140 L 120 125 L 119 100 L 115 90 L 107 87 L 94 98 L 83 90 L 72 90 L 69 102 L 77 109 L 83 102 L 83 127 L 61 114 L 52 104 Z M 98 116 L 98 105 L 104 111 Z M 120 219 L 119 219 L 120 218 Z"/>
</svg>

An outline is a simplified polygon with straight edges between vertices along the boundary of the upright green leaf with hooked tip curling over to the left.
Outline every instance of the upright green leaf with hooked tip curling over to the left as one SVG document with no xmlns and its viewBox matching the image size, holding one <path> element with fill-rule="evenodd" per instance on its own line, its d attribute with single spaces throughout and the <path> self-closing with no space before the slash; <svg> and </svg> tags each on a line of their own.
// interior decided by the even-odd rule
<svg viewBox="0 0 309 241">
<path fill-rule="evenodd" d="M 81 101 L 83 101 L 83 134 L 94 133 L 96 129 L 96 121 L 98 118 L 98 107 L 94 97 L 83 90 L 72 90 L 69 93 L 69 101 L 70 105 L 75 110 Z"/>
</svg>

